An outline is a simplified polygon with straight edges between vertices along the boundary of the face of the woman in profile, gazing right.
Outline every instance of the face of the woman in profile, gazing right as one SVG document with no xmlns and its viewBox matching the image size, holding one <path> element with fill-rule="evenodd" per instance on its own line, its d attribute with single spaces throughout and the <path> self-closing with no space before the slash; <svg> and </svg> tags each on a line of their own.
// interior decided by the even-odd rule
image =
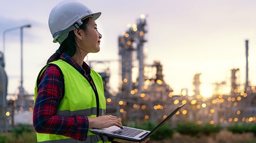
<svg viewBox="0 0 256 143">
<path fill-rule="evenodd" d="M 97 53 L 100 50 L 100 39 L 102 35 L 97 30 L 97 24 L 92 17 L 90 17 L 86 30 L 80 30 L 81 40 L 80 49 L 81 52 Z"/>
</svg>

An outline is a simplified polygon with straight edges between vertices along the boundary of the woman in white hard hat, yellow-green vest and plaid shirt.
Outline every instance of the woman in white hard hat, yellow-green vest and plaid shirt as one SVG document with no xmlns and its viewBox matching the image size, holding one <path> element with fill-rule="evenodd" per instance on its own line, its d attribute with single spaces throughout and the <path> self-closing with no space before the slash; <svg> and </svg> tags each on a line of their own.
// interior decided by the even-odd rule
<svg viewBox="0 0 256 143">
<path fill-rule="evenodd" d="M 76 1 L 62 2 L 50 13 L 53 42 L 60 46 L 36 80 L 33 125 L 38 142 L 109 142 L 88 129 L 123 128 L 116 116 L 105 115 L 102 79 L 83 61 L 100 50 L 102 35 L 95 23 L 100 14 Z"/>
</svg>

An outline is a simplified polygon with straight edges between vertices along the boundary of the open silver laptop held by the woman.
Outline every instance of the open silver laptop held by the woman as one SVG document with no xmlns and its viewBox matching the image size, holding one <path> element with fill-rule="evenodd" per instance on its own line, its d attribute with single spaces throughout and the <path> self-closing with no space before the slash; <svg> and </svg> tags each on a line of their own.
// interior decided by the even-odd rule
<svg viewBox="0 0 256 143">
<path fill-rule="evenodd" d="M 178 106 L 172 113 L 170 113 L 162 122 L 160 122 L 152 131 L 141 130 L 131 127 L 123 126 L 123 129 L 120 129 L 117 126 L 111 126 L 109 128 L 103 129 L 90 129 L 92 133 L 108 136 L 111 138 L 117 138 L 132 142 L 141 142 L 144 139 L 150 137 L 153 133 L 155 133 L 165 122 L 169 120 L 176 112 L 178 112 L 185 104 Z"/>
</svg>

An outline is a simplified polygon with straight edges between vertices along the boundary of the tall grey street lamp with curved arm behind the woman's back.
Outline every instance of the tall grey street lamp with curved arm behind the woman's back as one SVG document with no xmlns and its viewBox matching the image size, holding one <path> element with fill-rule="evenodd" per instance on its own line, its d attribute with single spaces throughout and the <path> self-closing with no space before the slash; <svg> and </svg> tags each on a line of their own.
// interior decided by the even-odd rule
<svg viewBox="0 0 256 143">
<path fill-rule="evenodd" d="M 14 28 L 10 28 L 4 31 L 3 34 L 3 54 L 5 54 L 5 34 L 7 32 L 16 30 L 16 29 L 20 29 L 20 87 L 19 87 L 19 93 L 24 95 L 24 88 L 23 88 L 23 28 L 30 28 L 31 25 L 24 25 L 24 26 L 19 26 L 19 27 L 14 27 Z"/>
</svg>

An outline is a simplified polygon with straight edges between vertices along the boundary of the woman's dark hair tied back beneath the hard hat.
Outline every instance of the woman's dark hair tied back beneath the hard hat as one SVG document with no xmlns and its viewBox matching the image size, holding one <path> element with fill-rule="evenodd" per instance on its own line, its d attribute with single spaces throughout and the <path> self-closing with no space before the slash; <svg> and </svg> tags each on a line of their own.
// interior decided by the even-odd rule
<svg viewBox="0 0 256 143">
<path fill-rule="evenodd" d="M 89 22 L 89 18 L 82 20 L 82 25 L 80 29 L 86 30 L 87 23 Z M 74 56 L 77 51 L 77 44 L 75 41 L 74 31 L 70 31 L 68 37 L 60 44 L 59 49 L 60 53 L 64 52 L 70 57 Z M 47 63 L 56 61 L 59 59 L 60 54 L 55 52 L 48 60 Z"/>
</svg>

